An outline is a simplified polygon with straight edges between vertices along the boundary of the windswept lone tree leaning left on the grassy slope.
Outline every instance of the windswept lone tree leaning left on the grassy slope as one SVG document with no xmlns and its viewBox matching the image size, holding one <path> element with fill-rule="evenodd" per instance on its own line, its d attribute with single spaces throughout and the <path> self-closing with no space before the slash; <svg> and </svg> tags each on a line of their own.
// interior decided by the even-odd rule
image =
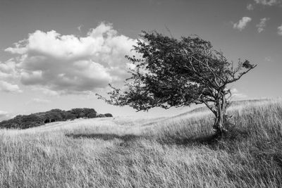
<svg viewBox="0 0 282 188">
<path fill-rule="evenodd" d="M 197 36 L 175 39 L 157 32 L 142 32 L 141 37 L 145 41 L 138 40 L 133 46 L 140 56 L 126 56 L 135 64 L 125 84 L 127 89 L 111 87 L 110 98 L 97 94 L 99 99 L 137 111 L 205 104 L 215 115 L 216 133 L 226 132 L 226 109 L 231 104 L 231 90 L 226 85 L 256 65 L 239 60 L 235 67 L 210 42 Z"/>
</svg>

